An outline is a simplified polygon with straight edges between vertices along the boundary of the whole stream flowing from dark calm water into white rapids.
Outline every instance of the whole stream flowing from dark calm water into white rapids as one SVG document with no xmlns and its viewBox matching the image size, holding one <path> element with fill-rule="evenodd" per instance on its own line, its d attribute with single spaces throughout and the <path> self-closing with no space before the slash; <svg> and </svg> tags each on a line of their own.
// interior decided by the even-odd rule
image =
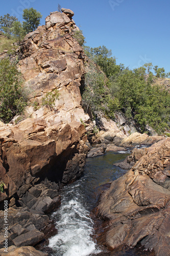
<svg viewBox="0 0 170 256">
<path fill-rule="evenodd" d="M 90 211 L 96 206 L 101 186 L 126 173 L 126 170 L 113 166 L 113 163 L 123 161 L 128 155 L 125 152 L 109 152 L 88 158 L 83 177 L 62 189 L 61 206 L 52 214 L 58 233 L 49 241 L 51 256 L 110 255 L 92 238 L 94 223 Z M 127 252 L 114 255 L 138 254 Z"/>
</svg>

